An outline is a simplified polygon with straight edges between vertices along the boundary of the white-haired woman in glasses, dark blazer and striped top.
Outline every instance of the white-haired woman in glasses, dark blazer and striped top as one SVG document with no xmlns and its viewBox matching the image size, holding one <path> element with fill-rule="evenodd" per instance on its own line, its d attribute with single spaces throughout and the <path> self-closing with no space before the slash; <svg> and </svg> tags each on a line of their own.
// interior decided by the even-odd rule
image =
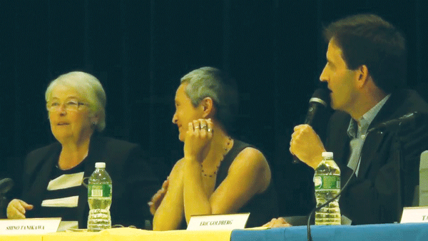
<svg viewBox="0 0 428 241">
<path fill-rule="evenodd" d="M 45 97 L 58 142 L 26 156 L 23 195 L 9 202 L 8 218 L 62 217 L 86 227 L 88 191 L 82 181 L 103 162 L 113 181 L 112 224 L 142 226 L 151 215 L 141 202 L 156 191 L 157 179 L 139 145 L 99 134 L 106 127 L 106 93 L 98 79 L 78 71 L 63 74 Z"/>
</svg>

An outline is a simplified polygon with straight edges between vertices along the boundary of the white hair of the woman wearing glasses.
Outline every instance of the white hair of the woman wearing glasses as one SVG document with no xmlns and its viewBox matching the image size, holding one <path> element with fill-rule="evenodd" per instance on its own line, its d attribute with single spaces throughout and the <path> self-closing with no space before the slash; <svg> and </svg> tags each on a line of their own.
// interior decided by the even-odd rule
<svg viewBox="0 0 428 241">
<path fill-rule="evenodd" d="M 94 116 L 98 116 L 95 129 L 101 132 L 106 128 L 106 92 L 104 92 L 98 78 L 80 71 L 64 73 L 49 83 L 45 93 L 46 103 L 51 101 L 52 90 L 56 86 L 75 89 L 81 95 L 81 98 L 88 103 L 91 113 Z"/>
</svg>

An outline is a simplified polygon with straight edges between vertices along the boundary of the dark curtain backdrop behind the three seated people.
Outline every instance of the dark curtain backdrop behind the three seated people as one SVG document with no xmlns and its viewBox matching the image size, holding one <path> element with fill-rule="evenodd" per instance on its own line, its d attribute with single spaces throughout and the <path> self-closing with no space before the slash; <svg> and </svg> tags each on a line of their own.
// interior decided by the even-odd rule
<svg viewBox="0 0 428 241">
<path fill-rule="evenodd" d="M 305 215 L 312 176 L 291 164 L 288 143 L 319 86 L 322 26 L 357 13 L 390 21 L 407 37 L 409 87 L 427 93 L 427 10 L 424 0 L 1 1 L 1 178 L 19 192 L 21 158 L 54 141 L 44 91 L 78 70 L 106 90 L 105 134 L 141 143 L 163 180 L 183 156 L 171 123 L 179 79 L 215 66 L 238 81 L 233 134 L 270 160 L 280 215 Z"/>
</svg>

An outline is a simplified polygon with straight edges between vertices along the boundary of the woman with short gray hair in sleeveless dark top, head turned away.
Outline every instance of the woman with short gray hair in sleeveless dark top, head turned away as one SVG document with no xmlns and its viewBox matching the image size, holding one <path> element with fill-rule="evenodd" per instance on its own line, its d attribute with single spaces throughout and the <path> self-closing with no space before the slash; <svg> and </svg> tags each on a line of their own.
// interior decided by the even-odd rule
<svg viewBox="0 0 428 241">
<path fill-rule="evenodd" d="M 265 156 L 229 135 L 238 111 L 233 79 L 212 67 L 191 71 L 181 78 L 175 108 L 173 123 L 184 142 L 184 157 L 149 202 L 153 229 L 183 228 L 192 215 L 250 212 L 248 227 L 276 217 Z"/>
</svg>

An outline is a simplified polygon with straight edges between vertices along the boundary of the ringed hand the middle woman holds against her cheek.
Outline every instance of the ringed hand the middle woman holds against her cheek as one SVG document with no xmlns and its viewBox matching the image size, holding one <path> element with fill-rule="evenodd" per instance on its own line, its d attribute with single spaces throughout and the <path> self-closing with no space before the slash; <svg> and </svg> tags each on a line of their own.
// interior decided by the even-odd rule
<svg viewBox="0 0 428 241">
<path fill-rule="evenodd" d="M 213 138 L 213 122 L 211 119 L 198 119 L 188 123 L 188 131 L 184 140 L 184 157 L 202 162 L 204 150 Z M 208 152 L 205 152 L 208 153 Z"/>
</svg>

